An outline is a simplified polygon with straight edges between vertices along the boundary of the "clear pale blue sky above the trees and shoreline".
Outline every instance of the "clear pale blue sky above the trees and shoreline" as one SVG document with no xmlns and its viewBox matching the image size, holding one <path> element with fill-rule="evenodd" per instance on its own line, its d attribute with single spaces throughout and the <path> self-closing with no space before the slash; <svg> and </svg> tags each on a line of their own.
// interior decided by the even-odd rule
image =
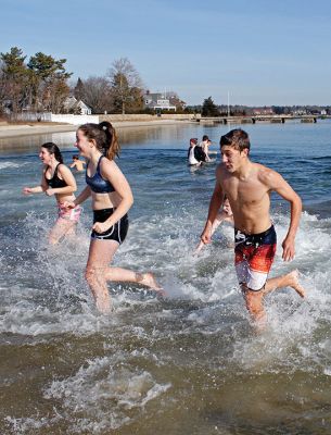
<svg viewBox="0 0 331 435">
<path fill-rule="evenodd" d="M 331 104 L 329 0 L 0 0 L 0 51 L 87 78 L 128 58 L 189 104 Z"/>
</svg>

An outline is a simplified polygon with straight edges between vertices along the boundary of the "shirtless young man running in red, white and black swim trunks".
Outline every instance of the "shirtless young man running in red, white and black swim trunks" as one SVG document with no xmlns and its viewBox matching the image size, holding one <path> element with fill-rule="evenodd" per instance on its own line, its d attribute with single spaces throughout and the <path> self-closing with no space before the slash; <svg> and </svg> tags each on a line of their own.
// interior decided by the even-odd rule
<svg viewBox="0 0 331 435">
<path fill-rule="evenodd" d="M 290 226 L 282 243 L 284 261 L 294 258 L 294 239 L 302 201 L 279 173 L 249 159 L 250 138 L 244 130 L 232 129 L 221 136 L 220 152 L 222 162 L 216 170 L 216 185 L 201 240 L 204 244 L 211 243 L 213 223 L 226 195 L 234 219 L 234 263 L 238 281 L 252 319 L 264 325 L 265 295 L 277 288 L 292 287 L 301 297 L 305 297 L 297 271 L 268 279 L 277 244 L 269 214 L 270 194 L 276 191 L 291 206 Z"/>
</svg>

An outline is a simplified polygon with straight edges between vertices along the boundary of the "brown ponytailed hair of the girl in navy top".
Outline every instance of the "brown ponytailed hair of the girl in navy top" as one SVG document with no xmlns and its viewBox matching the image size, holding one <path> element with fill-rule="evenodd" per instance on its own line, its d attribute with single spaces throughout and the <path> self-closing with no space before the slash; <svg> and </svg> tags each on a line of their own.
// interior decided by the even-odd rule
<svg viewBox="0 0 331 435">
<path fill-rule="evenodd" d="M 100 124 L 84 124 L 78 128 L 89 140 L 94 140 L 97 148 L 109 160 L 114 160 L 115 156 L 119 157 L 120 147 L 117 135 L 113 125 L 103 121 Z"/>
</svg>

